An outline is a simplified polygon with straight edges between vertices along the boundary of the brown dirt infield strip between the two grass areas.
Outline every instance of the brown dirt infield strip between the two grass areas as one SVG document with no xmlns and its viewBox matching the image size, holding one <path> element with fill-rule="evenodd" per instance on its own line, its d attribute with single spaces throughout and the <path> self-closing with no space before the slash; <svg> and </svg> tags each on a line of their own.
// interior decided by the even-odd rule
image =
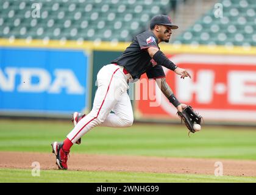
<svg viewBox="0 0 256 195">
<path fill-rule="evenodd" d="M 41 169 L 57 169 L 54 154 L 34 152 L 0 152 L 0 168 L 31 169 L 38 161 Z M 165 158 L 120 155 L 71 154 L 69 170 L 138 171 L 175 174 L 214 175 L 215 162 L 221 161 L 224 176 L 256 176 L 256 161 L 202 158 Z"/>
</svg>

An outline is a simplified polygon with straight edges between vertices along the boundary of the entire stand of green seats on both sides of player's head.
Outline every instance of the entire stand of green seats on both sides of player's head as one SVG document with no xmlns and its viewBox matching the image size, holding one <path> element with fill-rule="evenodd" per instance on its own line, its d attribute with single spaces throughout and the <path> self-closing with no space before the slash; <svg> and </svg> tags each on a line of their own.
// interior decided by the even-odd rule
<svg viewBox="0 0 256 195">
<path fill-rule="evenodd" d="M 191 2 L 195 4 L 193 1 L 3 0 L 0 5 L 0 37 L 27 40 L 131 41 L 134 35 L 148 28 L 152 16 L 172 13 L 177 15 L 174 12 L 176 6 L 187 4 L 187 7 L 191 7 Z M 206 0 L 201 0 L 204 1 Z M 172 43 L 255 46 L 255 0 L 219 2 L 223 5 L 222 18 L 216 17 L 215 7 L 209 5 L 211 9 L 208 10 L 207 7 L 208 12 L 199 19 L 191 19 L 191 15 L 188 16 L 191 20 L 189 23 L 185 19 L 188 28 L 184 30 L 181 27 L 180 31 L 177 30 L 172 37 Z M 32 5 L 35 3 L 40 5 L 39 18 L 32 16 Z M 182 13 L 183 16 L 184 14 Z M 180 22 L 179 25 L 186 26 Z"/>
</svg>

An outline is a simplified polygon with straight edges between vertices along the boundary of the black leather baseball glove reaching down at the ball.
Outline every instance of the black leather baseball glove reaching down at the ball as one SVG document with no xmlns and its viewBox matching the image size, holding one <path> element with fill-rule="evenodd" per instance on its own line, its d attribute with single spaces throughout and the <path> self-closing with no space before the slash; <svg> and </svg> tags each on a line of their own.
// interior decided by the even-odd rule
<svg viewBox="0 0 256 195">
<path fill-rule="evenodd" d="M 193 128 L 194 124 L 201 124 L 202 116 L 200 116 L 198 113 L 194 112 L 193 108 L 188 105 L 185 107 L 182 112 L 177 112 L 177 115 L 181 118 L 181 122 L 183 121 L 185 125 L 187 126 L 188 130 L 190 132 L 194 133 L 195 130 Z"/>
</svg>

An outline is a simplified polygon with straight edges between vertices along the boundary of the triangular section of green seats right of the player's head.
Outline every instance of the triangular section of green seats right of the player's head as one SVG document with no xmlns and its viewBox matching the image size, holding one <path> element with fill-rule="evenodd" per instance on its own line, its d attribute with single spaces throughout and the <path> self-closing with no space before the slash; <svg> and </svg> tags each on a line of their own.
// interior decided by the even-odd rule
<svg viewBox="0 0 256 195">
<path fill-rule="evenodd" d="M 222 0 L 223 16 L 215 7 L 174 40 L 179 44 L 256 46 L 255 0 Z"/>
</svg>

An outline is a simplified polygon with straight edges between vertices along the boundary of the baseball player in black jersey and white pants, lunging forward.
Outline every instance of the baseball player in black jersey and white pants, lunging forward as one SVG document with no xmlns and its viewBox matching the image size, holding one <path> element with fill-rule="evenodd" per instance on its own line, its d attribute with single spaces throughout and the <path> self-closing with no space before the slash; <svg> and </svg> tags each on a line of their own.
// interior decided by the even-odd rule
<svg viewBox="0 0 256 195">
<path fill-rule="evenodd" d="M 177 67 L 160 51 L 161 42 L 168 42 L 172 29 L 178 26 L 172 24 L 169 16 L 157 15 L 151 19 L 150 30 L 133 38 L 132 43 L 118 59 L 103 66 L 98 75 L 98 90 L 96 91 L 93 108 L 87 115 L 74 113 L 74 129 L 69 132 L 63 143 L 55 141 L 51 144 L 59 169 L 68 169 L 67 161 L 71 146 L 79 144 L 81 137 L 95 126 L 129 127 L 133 124 L 132 105 L 127 94 L 129 79 L 138 80 L 146 73 L 149 79 L 157 79 L 158 87 L 169 99 L 172 105 L 182 112 L 187 105 L 181 104 L 172 93 L 165 80 L 162 66 L 180 75 L 180 78 L 190 77 L 185 69 Z M 113 113 L 110 113 L 113 111 Z"/>
</svg>

